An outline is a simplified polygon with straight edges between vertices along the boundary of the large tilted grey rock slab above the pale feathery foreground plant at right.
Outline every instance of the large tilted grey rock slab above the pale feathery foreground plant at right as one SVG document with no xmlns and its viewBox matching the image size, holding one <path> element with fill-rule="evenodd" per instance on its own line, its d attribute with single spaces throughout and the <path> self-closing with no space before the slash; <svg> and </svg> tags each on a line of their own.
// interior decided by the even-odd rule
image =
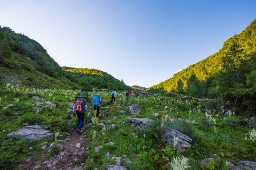
<svg viewBox="0 0 256 170">
<path fill-rule="evenodd" d="M 178 143 L 176 144 L 175 148 L 179 150 L 180 153 L 184 153 L 186 148 L 190 148 L 190 143 L 192 139 L 179 132 L 178 130 L 172 129 L 170 127 L 163 127 L 163 134 L 162 136 L 167 140 L 167 144 L 173 147 L 174 138 L 179 137 Z"/>
</svg>

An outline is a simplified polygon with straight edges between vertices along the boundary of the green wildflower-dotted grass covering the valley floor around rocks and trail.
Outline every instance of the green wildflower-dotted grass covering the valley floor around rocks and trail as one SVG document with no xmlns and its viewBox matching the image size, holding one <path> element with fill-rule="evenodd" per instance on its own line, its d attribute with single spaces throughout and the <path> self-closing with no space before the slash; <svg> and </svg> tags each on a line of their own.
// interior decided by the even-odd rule
<svg viewBox="0 0 256 170">
<path fill-rule="evenodd" d="M 21 139 L 8 139 L 5 136 L 9 132 L 13 132 L 25 125 L 41 125 L 47 128 L 52 133 L 60 132 L 65 134 L 73 127 L 68 126 L 69 119 L 66 114 L 71 115 L 71 112 L 66 110 L 69 108 L 69 99 L 75 102 L 81 91 L 73 90 L 57 90 L 57 89 L 36 89 L 21 86 L 2 87 L 0 89 L 0 168 L 9 169 L 16 167 L 21 162 L 25 162 L 31 155 L 46 155 L 45 151 L 40 150 L 40 144 L 44 141 L 38 140 L 31 143 L 24 142 Z M 83 92 L 85 93 L 85 92 Z M 97 93 L 101 98 L 110 104 L 109 91 L 97 89 Z M 245 140 L 245 134 L 255 127 L 252 127 L 245 118 L 237 118 L 236 115 L 222 116 L 215 113 L 220 113 L 219 107 L 212 109 L 212 99 L 191 99 L 189 103 L 180 100 L 180 95 L 171 97 L 152 95 L 152 96 L 131 96 L 129 101 L 123 103 L 125 92 L 117 92 L 117 101 L 115 105 L 109 106 L 108 109 L 101 110 L 99 119 L 106 120 L 105 130 L 103 126 L 96 123 L 92 124 L 87 130 L 86 139 L 93 141 L 87 147 L 90 149 L 89 154 L 81 158 L 85 162 L 88 170 L 93 170 L 95 167 L 104 169 L 108 163 L 113 164 L 113 160 L 107 160 L 105 153 L 110 152 L 111 157 L 121 157 L 124 166 L 131 170 L 135 169 L 165 169 L 166 158 L 172 160 L 173 156 L 184 156 L 189 159 L 190 170 L 199 169 L 199 162 L 205 158 L 212 157 L 212 154 L 217 154 L 220 160 L 216 159 L 215 168 L 228 170 L 225 161 L 247 160 L 256 161 L 256 142 Z M 91 92 L 85 93 L 87 105 L 89 109 L 88 121 L 91 122 L 93 117 L 92 105 L 90 103 L 93 98 Z M 37 101 L 33 101 L 31 96 L 38 95 L 44 99 L 44 102 L 52 102 L 55 107 L 50 108 L 43 106 L 43 114 L 37 113 Z M 17 100 L 19 99 L 19 102 Z M 150 102 L 144 102 L 141 99 L 148 99 Z M 35 103 L 35 105 L 33 105 Z M 133 125 L 128 124 L 125 120 L 129 113 L 120 114 L 120 110 L 126 110 L 127 106 L 138 104 L 141 108 L 140 115 L 132 116 L 133 118 L 148 118 L 154 119 L 155 124 L 151 129 L 137 129 Z M 159 104 L 161 103 L 161 104 Z M 7 107 L 8 104 L 14 104 Z M 222 105 L 223 103 L 219 103 Z M 116 107 L 121 106 L 121 107 Z M 175 108 L 172 110 L 171 108 Z M 211 119 L 206 118 L 205 112 L 213 115 Z M 14 114 L 19 112 L 19 114 Z M 152 116 L 154 113 L 159 113 L 158 117 Z M 104 113 L 104 116 L 103 116 Z M 166 146 L 165 140 L 161 137 L 161 118 L 166 114 L 174 117 L 174 119 L 182 118 L 174 124 L 170 120 L 164 122 L 164 126 L 179 130 L 180 132 L 190 136 L 193 139 L 191 148 L 185 153 L 177 153 L 171 150 L 162 150 L 161 147 Z M 106 117 L 105 117 L 106 116 Z M 116 119 L 114 119 L 116 117 Z M 74 118 L 73 118 L 74 119 Z M 195 123 L 187 122 L 186 120 L 195 121 Z M 76 122 L 76 120 L 74 119 Z M 116 127 L 107 131 L 107 127 L 114 124 Z M 76 126 L 76 123 L 73 125 Z M 217 128 L 217 132 L 214 131 Z M 93 132 L 96 131 L 96 137 L 93 139 Z M 106 145 L 114 142 L 114 145 Z M 98 153 L 94 148 L 104 145 Z M 29 147 L 32 147 L 30 150 Z M 230 155 L 227 155 L 227 153 Z M 222 156 L 222 154 L 224 156 Z M 138 154 L 138 158 L 133 154 Z M 126 164 L 123 162 L 123 155 L 133 163 Z M 54 153 L 48 155 L 54 156 Z M 36 161 L 42 161 L 38 157 Z M 90 161 L 93 163 L 90 164 Z"/>
</svg>

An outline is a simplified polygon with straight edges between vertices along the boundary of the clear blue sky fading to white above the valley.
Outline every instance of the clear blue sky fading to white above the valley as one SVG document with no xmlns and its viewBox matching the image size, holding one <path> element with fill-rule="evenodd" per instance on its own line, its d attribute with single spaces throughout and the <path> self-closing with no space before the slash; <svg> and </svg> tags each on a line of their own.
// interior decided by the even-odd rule
<svg viewBox="0 0 256 170">
<path fill-rule="evenodd" d="M 256 19 L 256 0 L 0 0 L 0 26 L 60 66 L 151 87 L 218 52 Z"/>
</svg>

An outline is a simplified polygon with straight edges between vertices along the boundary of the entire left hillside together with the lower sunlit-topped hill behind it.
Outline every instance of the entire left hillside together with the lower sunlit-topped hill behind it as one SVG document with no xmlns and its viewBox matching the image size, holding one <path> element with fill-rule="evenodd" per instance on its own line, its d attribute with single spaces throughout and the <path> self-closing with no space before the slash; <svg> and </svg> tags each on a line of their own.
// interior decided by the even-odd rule
<svg viewBox="0 0 256 170">
<path fill-rule="evenodd" d="M 126 88 L 123 81 L 100 70 L 61 68 L 38 42 L 24 34 L 16 34 L 9 27 L 0 27 L 0 71 L 1 86 L 10 83 L 88 91 L 94 87 Z"/>
</svg>

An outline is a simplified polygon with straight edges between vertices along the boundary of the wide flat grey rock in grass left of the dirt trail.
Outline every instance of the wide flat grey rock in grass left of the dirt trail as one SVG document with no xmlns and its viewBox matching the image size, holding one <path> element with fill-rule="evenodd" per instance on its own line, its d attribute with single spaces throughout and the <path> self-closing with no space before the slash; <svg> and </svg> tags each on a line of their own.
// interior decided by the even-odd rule
<svg viewBox="0 0 256 170">
<path fill-rule="evenodd" d="M 37 139 L 53 139 L 53 134 L 41 127 L 40 125 L 29 125 L 26 127 L 23 127 L 19 129 L 19 131 L 11 132 L 6 137 L 12 137 L 12 138 L 23 138 L 23 140 L 28 140 L 28 142 L 31 142 L 33 140 Z"/>
</svg>

